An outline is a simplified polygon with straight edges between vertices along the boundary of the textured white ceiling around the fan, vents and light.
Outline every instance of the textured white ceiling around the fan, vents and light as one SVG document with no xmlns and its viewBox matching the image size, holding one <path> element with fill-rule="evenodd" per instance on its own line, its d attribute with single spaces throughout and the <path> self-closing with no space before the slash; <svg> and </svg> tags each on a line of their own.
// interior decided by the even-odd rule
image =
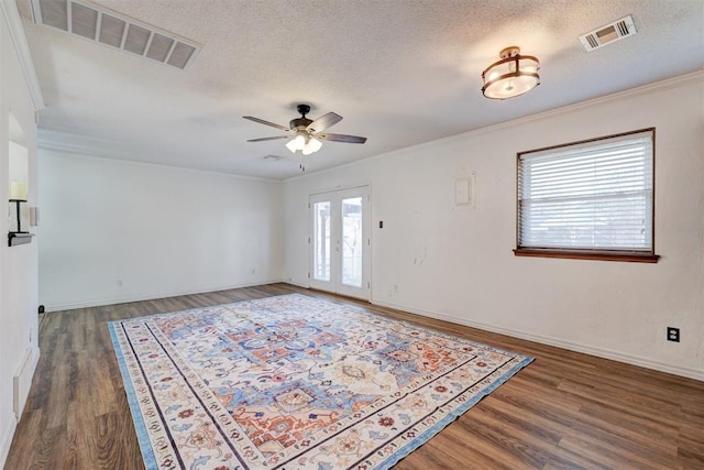
<svg viewBox="0 0 704 470">
<path fill-rule="evenodd" d="M 3 0 L 4 1 L 4 0 Z M 299 174 L 285 141 L 249 143 L 334 111 L 308 172 L 704 67 L 702 0 L 99 0 L 202 45 L 186 70 L 34 24 L 18 0 L 46 108 L 42 145 L 241 175 Z M 638 34 L 586 53 L 578 36 L 631 14 Z M 482 70 L 518 45 L 542 84 L 482 97 Z M 278 155 L 284 159 L 265 159 Z"/>
</svg>

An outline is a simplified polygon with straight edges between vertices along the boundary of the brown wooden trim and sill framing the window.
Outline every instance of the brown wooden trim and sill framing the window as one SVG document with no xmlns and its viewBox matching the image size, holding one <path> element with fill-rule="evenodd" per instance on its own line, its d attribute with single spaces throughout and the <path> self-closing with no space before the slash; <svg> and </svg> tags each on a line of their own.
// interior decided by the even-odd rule
<svg viewBox="0 0 704 470">
<path fill-rule="evenodd" d="M 583 145 L 595 143 L 608 139 L 617 139 L 627 135 L 638 134 L 642 132 L 651 132 L 652 134 L 652 214 L 651 220 L 651 247 L 649 251 L 631 251 L 631 250 L 609 250 L 609 249 L 569 249 L 569 248 L 535 248 L 520 245 L 520 190 L 518 182 L 520 178 L 520 160 L 522 155 L 529 153 L 546 152 L 550 150 L 564 149 L 573 145 Z M 516 248 L 513 250 L 516 256 L 529 258 L 561 258 L 570 260 L 597 260 L 597 261 L 622 261 L 638 263 L 657 263 L 660 259 L 656 254 L 656 128 L 644 128 L 635 131 L 622 132 L 610 135 L 602 135 L 594 139 L 585 139 L 575 142 L 568 142 L 558 145 L 550 145 L 540 149 L 518 152 L 516 154 Z"/>
</svg>

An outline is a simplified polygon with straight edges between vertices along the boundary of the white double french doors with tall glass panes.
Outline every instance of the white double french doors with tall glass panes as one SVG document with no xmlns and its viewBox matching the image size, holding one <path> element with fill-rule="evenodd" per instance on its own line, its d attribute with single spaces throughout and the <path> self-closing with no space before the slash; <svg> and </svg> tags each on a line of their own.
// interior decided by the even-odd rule
<svg viewBox="0 0 704 470">
<path fill-rule="evenodd" d="M 369 300 L 370 187 L 310 196 L 310 286 Z"/>
</svg>

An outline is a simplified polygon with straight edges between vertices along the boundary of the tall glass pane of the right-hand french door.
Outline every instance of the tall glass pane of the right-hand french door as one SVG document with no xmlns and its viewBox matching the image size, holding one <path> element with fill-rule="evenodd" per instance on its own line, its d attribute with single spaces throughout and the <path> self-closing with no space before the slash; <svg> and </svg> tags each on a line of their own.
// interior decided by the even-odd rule
<svg viewBox="0 0 704 470">
<path fill-rule="evenodd" d="M 362 198 L 342 199 L 342 284 L 362 287 Z"/>
</svg>

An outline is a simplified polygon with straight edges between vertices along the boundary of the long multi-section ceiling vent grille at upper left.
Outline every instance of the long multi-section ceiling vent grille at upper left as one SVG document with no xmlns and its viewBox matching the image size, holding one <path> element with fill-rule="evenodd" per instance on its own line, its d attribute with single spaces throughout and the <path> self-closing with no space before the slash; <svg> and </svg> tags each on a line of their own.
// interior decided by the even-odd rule
<svg viewBox="0 0 704 470">
<path fill-rule="evenodd" d="M 81 0 L 32 0 L 34 21 L 176 68 L 188 67 L 200 46 L 173 33 Z"/>
</svg>

